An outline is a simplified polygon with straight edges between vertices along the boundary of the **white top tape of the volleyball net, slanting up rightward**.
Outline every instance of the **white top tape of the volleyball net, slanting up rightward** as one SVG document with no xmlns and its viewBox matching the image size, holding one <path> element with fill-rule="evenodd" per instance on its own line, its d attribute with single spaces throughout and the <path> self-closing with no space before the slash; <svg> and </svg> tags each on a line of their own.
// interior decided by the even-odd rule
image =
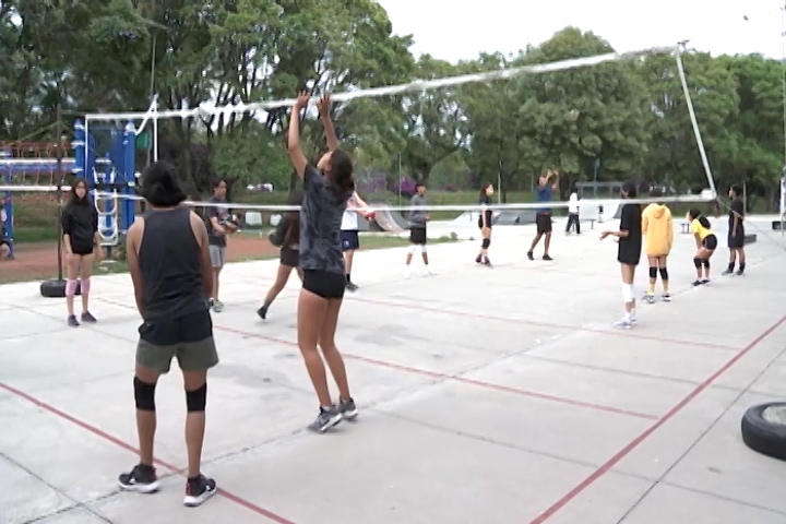
<svg viewBox="0 0 786 524">
<path fill-rule="evenodd" d="M 388 85 L 382 87 L 371 87 L 367 90 L 354 90 L 344 93 L 331 95 L 333 102 L 348 102 L 356 98 L 372 98 L 378 96 L 401 95 L 405 93 L 418 93 L 428 90 L 437 90 L 440 87 L 449 87 L 454 85 L 492 82 L 497 80 L 507 80 L 523 74 L 541 74 L 556 71 L 564 71 L 568 69 L 586 68 L 598 66 L 604 62 L 612 62 L 620 60 L 630 60 L 633 58 L 644 57 L 647 55 L 671 55 L 679 52 L 678 46 L 651 47 L 628 52 L 609 52 L 606 55 L 597 55 L 595 57 L 572 58 L 570 60 L 560 60 L 550 63 L 539 63 L 533 66 L 521 66 L 517 68 L 500 69 L 496 71 L 485 71 L 480 73 L 462 74 L 457 76 L 448 76 L 444 79 L 433 80 L 416 80 L 406 84 Z M 311 97 L 309 104 L 317 104 L 319 97 Z M 143 120 L 143 119 L 162 119 L 162 118 L 193 118 L 198 116 L 211 116 L 233 112 L 247 112 L 276 109 L 281 107 L 291 107 L 295 98 L 285 98 L 281 100 L 258 102 L 252 104 L 237 104 L 224 107 L 214 107 L 210 104 L 203 104 L 198 108 L 170 109 L 170 110 L 153 110 L 145 112 L 106 112 L 106 114 L 88 114 L 85 116 L 86 121 L 116 121 L 116 120 Z M 155 106 L 155 102 L 154 102 Z"/>
</svg>

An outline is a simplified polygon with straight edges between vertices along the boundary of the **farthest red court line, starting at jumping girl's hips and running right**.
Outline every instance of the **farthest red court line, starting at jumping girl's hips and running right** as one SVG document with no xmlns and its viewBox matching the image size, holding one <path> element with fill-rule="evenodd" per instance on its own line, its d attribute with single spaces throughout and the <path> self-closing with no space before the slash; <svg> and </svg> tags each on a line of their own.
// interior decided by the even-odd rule
<svg viewBox="0 0 786 524">
<path fill-rule="evenodd" d="M 655 336 L 655 335 L 643 335 L 639 332 L 628 332 L 628 331 L 607 331 L 602 329 L 595 329 L 595 327 L 584 327 L 581 325 L 568 325 L 568 324 L 557 324 L 553 322 L 541 322 L 539 320 L 526 320 L 526 319 L 511 319 L 505 317 L 496 317 L 493 314 L 479 314 L 474 313 L 469 311 L 458 311 L 455 309 L 443 309 L 443 308 L 434 308 L 431 306 L 420 306 L 420 305 L 408 305 L 408 303 L 401 303 L 401 302 L 389 302 L 385 300 L 377 300 L 373 298 L 360 298 L 360 297 L 346 297 L 345 301 L 350 302 L 366 302 L 366 303 L 374 303 L 378 306 L 388 306 L 391 308 L 400 308 L 400 309 L 412 309 L 417 311 L 429 311 L 432 313 L 441 313 L 441 314 L 452 314 L 454 317 L 464 317 L 468 319 L 478 319 L 478 320 L 491 320 L 496 322 L 508 322 L 519 325 L 534 325 L 538 327 L 551 327 L 556 330 L 567 330 L 567 331 L 579 331 L 579 332 L 587 332 L 587 333 L 597 333 L 600 335 L 608 335 L 608 336 L 620 336 L 624 338 L 634 338 L 634 340 L 643 340 L 643 341 L 653 341 L 653 342 L 663 342 L 665 344 L 680 344 L 680 345 L 690 345 L 690 346 L 698 346 L 698 347 L 708 347 L 712 349 L 727 349 L 727 350 L 734 350 L 736 352 L 738 348 L 735 346 L 727 346 L 724 344 L 713 344 L 710 342 L 701 342 L 701 341 L 683 341 L 680 338 L 669 338 L 666 336 Z"/>
</svg>

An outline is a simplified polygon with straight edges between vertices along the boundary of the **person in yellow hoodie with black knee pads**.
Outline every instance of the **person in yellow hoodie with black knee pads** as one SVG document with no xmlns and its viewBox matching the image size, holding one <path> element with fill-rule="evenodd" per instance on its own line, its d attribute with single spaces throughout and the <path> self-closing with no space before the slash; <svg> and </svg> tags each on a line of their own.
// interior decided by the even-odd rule
<svg viewBox="0 0 786 524">
<path fill-rule="evenodd" d="M 652 198 L 663 196 L 663 191 L 658 188 L 652 190 Z M 642 212 L 642 233 L 645 236 L 644 252 L 650 262 L 650 289 L 644 296 L 644 300 L 655 302 L 655 283 L 657 275 L 660 273 L 660 282 L 663 283 L 663 295 L 660 299 L 665 302 L 671 300 L 668 293 L 668 270 L 666 269 L 666 259 L 671 252 L 674 243 L 674 226 L 671 224 L 671 211 L 664 204 L 650 204 Z"/>
</svg>

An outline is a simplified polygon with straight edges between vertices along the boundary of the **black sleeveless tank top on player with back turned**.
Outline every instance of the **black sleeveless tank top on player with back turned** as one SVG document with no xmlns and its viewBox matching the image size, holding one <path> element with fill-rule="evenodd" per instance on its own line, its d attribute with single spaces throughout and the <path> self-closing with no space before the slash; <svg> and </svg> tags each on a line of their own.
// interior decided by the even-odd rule
<svg viewBox="0 0 786 524">
<path fill-rule="evenodd" d="M 176 319 L 207 309 L 201 260 L 191 229 L 191 210 L 151 210 L 144 214 L 139 265 L 145 321 Z"/>
</svg>

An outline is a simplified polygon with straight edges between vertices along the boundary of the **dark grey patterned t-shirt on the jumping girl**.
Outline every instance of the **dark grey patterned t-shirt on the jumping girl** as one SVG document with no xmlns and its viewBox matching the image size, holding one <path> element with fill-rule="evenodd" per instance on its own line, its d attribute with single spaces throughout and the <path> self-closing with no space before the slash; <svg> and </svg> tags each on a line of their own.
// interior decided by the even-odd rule
<svg viewBox="0 0 786 524">
<path fill-rule="evenodd" d="M 348 195 L 325 184 L 322 174 L 306 166 L 300 209 L 300 267 L 344 274 L 341 221 Z"/>
</svg>

